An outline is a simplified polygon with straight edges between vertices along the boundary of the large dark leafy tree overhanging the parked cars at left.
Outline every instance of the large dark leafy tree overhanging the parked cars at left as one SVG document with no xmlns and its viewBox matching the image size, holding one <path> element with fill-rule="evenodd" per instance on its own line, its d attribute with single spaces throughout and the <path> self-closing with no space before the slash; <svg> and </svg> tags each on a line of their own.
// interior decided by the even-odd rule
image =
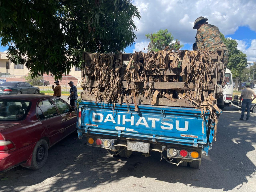
<svg viewBox="0 0 256 192">
<path fill-rule="evenodd" d="M 139 18 L 131 0 L 1 0 L 0 37 L 15 64 L 32 77 L 61 79 L 80 67 L 83 52 L 118 52 L 132 45 Z"/>
</svg>

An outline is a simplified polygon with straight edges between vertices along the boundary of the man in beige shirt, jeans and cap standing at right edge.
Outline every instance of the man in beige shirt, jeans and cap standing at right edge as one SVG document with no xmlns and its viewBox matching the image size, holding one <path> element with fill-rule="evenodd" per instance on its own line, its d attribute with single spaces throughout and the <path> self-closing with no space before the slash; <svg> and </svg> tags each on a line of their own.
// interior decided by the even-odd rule
<svg viewBox="0 0 256 192">
<path fill-rule="evenodd" d="M 245 86 L 246 88 L 241 92 L 241 97 L 239 101 L 239 104 L 241 105 L 241 100 L 243 98 L 241 118 L 239 120 L 244 120 L 244 112 L 245 112 L 245 108 L 247 108 L 246 121 L 249 121 L 252 101 L 255 100 L 256 94 L 250 88 L 250 83 L 247 83 Z M 253 99 L 252 99 L 252 95 L 254 96 Z"/>
</svg>

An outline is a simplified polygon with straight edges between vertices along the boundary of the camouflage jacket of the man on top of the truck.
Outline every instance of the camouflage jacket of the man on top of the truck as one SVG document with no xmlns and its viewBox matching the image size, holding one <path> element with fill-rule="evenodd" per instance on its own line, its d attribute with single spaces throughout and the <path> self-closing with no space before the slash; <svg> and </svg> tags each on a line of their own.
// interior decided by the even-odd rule
<svg viewBox="0 0 256 192">
<path fill-rule="evenodd" d="M 196 44 L 199 50 L 211 53 L 219 48 L 228 50 L 220 38 L 219 28 L 210 24 L 204 24 L 197 30 Z"/>
</svg>

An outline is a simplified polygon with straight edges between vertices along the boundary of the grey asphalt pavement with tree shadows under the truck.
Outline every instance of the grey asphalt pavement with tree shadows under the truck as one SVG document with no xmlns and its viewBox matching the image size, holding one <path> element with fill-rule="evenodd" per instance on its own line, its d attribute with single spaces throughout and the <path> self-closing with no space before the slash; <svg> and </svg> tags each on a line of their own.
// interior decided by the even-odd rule
<svg viewBox="0 0 256 192">
<path fill-rule="evenodd" d="M 61 97 L 67 100 L 68 96 Z M 0 173 L 0 192 L 84 191 L 240 191 L 256 188 L 256 114 L 240 121 L 241 110 L 223 109 L 217 140 L 200 169 L 181 167 L 161 160 L 160 153 L 129 159 L 113 157 L 102 148 L 85 144 L 73 133 L 49 149 L 40 170 L 18 166 Z M 3 179 L 4 178 L 4 179 Z"/>
</svg>

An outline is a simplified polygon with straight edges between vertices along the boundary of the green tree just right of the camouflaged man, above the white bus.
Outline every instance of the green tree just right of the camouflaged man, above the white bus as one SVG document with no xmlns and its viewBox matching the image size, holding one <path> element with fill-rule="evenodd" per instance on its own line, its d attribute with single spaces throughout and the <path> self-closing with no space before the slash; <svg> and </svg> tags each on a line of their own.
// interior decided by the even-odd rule
<svg viewBox="0 0 256 192">
<path fill-rule="evenodd" d="M 227 68 L 230 69 L 230 71 L 232 72 L 233 78 L 241 78 L 243 70 L 247 64 L 246 54 L 237 49 L 236 40 L 225 38 L 222 33 L 220 33 L 220 37 L 228 48 Z"/>
</svg>

